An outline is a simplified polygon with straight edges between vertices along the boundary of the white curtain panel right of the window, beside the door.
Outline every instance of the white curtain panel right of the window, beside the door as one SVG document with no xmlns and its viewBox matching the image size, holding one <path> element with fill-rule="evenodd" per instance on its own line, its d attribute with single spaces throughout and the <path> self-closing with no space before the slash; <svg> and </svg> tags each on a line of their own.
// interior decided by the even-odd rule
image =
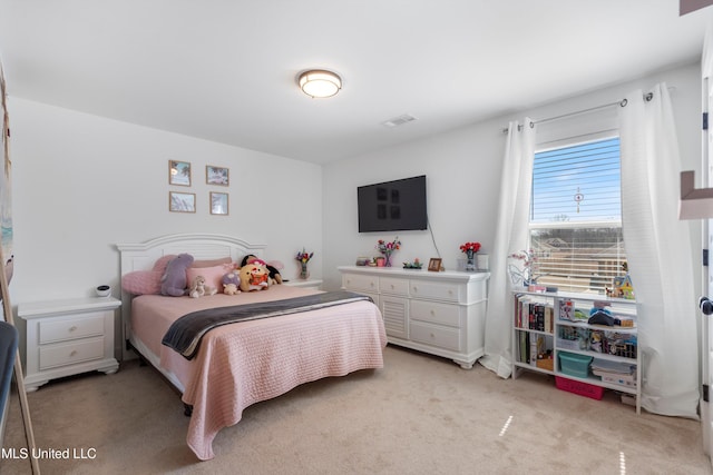
<svg viewBox="0 0 713 475">
<path fill-rule="evenodd" d="M 665 83 L 619 108 L 622 224 L 638 314 L 642 407 L 697 418 L 699 339 L 690 228 L 678 220 L 681 160 Z"/>
</svg>

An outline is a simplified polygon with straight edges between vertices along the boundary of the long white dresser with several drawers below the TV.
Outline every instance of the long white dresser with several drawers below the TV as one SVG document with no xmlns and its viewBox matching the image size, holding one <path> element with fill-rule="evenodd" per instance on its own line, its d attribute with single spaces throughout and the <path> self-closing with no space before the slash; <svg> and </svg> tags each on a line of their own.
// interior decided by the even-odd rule
<svg viewBox="0 0 713 475">
<path fill-rule="evenodd" d="M 389 343 L 472 368 L 484 355 L 488 273 L 344 266 L 342 288 L 379 306 Z"/>
</svg>

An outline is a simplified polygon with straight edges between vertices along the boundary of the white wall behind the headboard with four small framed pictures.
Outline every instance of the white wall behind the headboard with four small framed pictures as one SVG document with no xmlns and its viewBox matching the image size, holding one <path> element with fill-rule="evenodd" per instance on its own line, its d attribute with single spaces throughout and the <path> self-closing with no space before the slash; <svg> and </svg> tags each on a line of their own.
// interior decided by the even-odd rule
<svg viewBox="0 0 713 475">
<path fill-rule="evenodd" d="M 119 296 L 118 243 L 204 231 L 266 244 L 285 265 L 306 246 L 320 277 L 319 166 L 10 98 L 16 256 L 12 304 Z M 168 185 L 168 160 L 189 161 L 192 186 Z M 205 166 L 229 168 L 229 187 L 208 186 Z M 196 194 L 197 212 L 168 211 L 168 191 Z M 229 194 L 229 215 L 208 210 L 208 192 Z"/>
</svg>

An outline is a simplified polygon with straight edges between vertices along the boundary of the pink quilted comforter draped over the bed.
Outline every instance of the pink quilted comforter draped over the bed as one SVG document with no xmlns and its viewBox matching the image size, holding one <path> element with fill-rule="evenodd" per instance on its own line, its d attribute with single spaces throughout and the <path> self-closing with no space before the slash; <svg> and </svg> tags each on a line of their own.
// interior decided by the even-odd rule
<svg viewBox="0 0 713 475">
<path fill-rule="evenodd" d="M 131 307 L 135 336 L 160 357 L 185 387 L 193 406 L 187 443 L 198 458 L 214 457 L 218 431 L 237 424 L 243 409 L 303 383 L 383 366 L 387 345 L 381 314 L 369 301 L 338 305 L 211 330 L 188 362 L 160 345 L 170 323 L 207 306 L 240 305 L 314 293 L 289 286 L 211 297 L 136 297 Z"/>
</svg>

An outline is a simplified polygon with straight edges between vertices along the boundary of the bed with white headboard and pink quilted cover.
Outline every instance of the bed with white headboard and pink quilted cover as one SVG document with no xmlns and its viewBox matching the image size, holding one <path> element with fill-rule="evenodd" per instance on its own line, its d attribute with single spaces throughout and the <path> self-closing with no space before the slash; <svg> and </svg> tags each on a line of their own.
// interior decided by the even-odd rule
<svg viewBox="0 0 713 475">
<path fill-rule="evenodd" d="M 240 263 L 245 255 L 260 258 L 264 253 L 263 245 L 208 234 L 170 235 L 117 248 L 123 281 L 150 275 L 157 261 L 182 253 L 202 263 Z M 383 320 L 370 300 L 221 325 L 203 336 L 195 357 L 188 359 L 162 344 L 168 328 L 185 314 L 324 294 L 284 284 L 201 298 L 134 293 L 141 294 L 123 287 L 125 358 L 133 357 L 128 349 L 133 348 L 178 389 L 192 408 L 186 442 L 202 461 L 214 457 L 213 439 L 222 428 L 237 424 L 247 406 L 304 383 L 383 366 Z"/>
</svg>

